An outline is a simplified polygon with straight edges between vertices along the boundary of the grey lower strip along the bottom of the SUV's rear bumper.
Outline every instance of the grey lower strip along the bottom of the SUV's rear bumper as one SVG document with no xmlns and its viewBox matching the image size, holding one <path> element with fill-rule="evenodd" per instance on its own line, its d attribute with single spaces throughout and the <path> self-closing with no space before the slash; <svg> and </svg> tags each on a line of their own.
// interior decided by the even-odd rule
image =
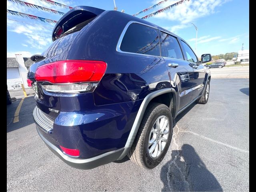
<svg viewBox="0 0 256 192">
<path fill-rule="evenodd" d="M 104 164 L 108 164 L 110 162 L 113 162 L 118 159 L 118 157 L 122 154 L 124 151 L 124 148 L 120 148 L 115 151 L 107 152 L 104 154 L 101 154 L 99 156 L 95 156 L 93 158 L 88 159 L 78 159 L 78 158 L 72 158 L 70 156 L 65 155 L 58 149 L 56 146 L 54 146 L 51 142 L 49 142 L 38 130 L 38 126 L 36 126 L 36 130 L 39 134 L 39 136 L 42 138 L 42 140 L 45 142 L 46 146 L 54 153 L 56 154 L 61 160 L 63 160 L 66 164 L 69 166 L 72 166 L 74 168 L 78 169 L 92 169 Z"/>
</svg>

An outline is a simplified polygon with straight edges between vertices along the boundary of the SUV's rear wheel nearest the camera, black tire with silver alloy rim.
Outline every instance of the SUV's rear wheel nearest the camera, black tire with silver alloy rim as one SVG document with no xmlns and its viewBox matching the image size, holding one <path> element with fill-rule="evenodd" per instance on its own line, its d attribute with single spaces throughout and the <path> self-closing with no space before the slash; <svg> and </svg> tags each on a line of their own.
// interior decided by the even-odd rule
<svg viewBox="0 0 256 192">
<path fill-rule="evenodd" d="M 160 122 L 158 127 L 162 127 L 160 130 L 157 129 L 157 121 Z M 163 123 L 161 124 L 161 122 Z M 166 126 L 164 126 L 165 124 Z M 158 134 L 156 130 L 158 130 Z M 159 134 L 160 132 L 164 134 Z M 163 160 L 171 140 L 172 114 L 170 108 L 164 104 L 151 103 L 145 111 L 137 136 L 127 156 L 137 165 L 152 169 Z M 152 144 L 149 144 L 150 141 Z"/>
</svg>

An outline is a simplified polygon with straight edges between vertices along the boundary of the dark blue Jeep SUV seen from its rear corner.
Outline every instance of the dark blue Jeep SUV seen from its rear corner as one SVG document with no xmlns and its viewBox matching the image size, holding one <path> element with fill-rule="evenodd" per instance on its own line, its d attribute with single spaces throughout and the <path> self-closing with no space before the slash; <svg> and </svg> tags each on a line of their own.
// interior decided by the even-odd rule
<svg viewBox="0 0 256 192">
<path fill-rule="evenodd" d="M 77 6 L 60 18 L 52 40 L 31 57 L 33 117 L 48 148 L 72 167 L 128 155 L 154 168 L 168 150 L 174 118 L 208 101 L 210 71 L 190 46 L 140 18 Z"/>
</svg>

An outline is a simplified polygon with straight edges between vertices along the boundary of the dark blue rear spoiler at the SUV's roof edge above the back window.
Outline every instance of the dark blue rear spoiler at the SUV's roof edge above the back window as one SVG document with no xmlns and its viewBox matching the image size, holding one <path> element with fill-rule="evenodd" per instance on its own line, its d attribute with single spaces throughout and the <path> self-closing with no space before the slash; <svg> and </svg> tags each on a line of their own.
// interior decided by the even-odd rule
<svg viewBox="0 0 256 192">
<path fill-rule="evenodd" d="M 54 26 L 52 31 L 52 41 L 55 41 L 61 34 L 67 32 L 72 27 L 88 19 L 98 16 L 105 10 L 89 6 L 77 6 L 68 11 Z"/>
</svg>

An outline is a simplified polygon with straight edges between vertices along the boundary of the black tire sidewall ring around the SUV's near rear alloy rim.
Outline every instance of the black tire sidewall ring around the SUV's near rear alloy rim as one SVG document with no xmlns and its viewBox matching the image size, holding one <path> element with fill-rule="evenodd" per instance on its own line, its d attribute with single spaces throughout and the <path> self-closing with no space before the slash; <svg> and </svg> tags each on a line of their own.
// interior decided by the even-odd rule
<svg viewBox="0 0 256 192">
<path fill-rule="evenodd" d="M 153 159 L 148 154 L 149 134 L 151 132 L 151 128 L 154 125 L 154 122 L 156 121 L 156 119 L 159 116 L 162 116 L 162 115 L 164 115 L 168 118 L 169 126 L 170 126 L 169 127 L 170 133 L 168 135 L 168 140 L 167 140 L 167 143 L 166 143 L 166 146 L 165 146 L 164 150 L 162 151 L 160 156 Z M 144 159 L 144 163 L 145 163 L 146 167 L 154 168 L 163 160 L 164 156 L 166 155 L 166 152 L 168 151 L 171 140 L 172 140 L 172 117 L 171 117 L 171 112 L 170 112 L 170 109 L 168 107 L 161 108 L 158 112 L 156 112 L 156 114 L 154 114 L 153 118 L 151 119 L 151 122 L 147 127 L 147 131 L 146 131 L 146 134 L 145 134 L 145 137 L 144 137 L 144 141 L 143 141 L 143 159 Z"/>
</svg>

